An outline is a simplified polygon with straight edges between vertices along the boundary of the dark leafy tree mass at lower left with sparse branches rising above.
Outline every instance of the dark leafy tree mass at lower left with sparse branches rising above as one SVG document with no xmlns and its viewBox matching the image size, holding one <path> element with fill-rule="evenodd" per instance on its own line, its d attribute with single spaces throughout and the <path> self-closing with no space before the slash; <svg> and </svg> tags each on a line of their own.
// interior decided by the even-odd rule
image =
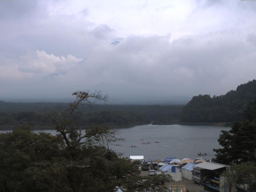
<svg viewBox="0 0 256 192">
<path fill-rule="evenodd" d="M 74 92 L 76 100 L 47 118 L 57 135 L 21 128 L 0 134 L 0 191 L 3 192 L 126 192 L 167 190 L 166 176 L 139 176 L 136 164 L 109 149 L 114 130 L 91 127 L 82 131 L 74 112 L 81 104 L 106 101 L 100 92 Z"/>
</svg>

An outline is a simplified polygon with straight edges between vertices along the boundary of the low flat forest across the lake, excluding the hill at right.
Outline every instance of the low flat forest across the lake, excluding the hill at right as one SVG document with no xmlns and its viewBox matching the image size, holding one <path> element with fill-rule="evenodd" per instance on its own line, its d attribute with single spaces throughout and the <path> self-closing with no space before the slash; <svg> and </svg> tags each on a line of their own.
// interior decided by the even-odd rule
<svg viewBox="0 0 256 192">
<path fill-rule="evenodd" d="M 59 107 L 58 107 L 59 106 Z M 53 122 L 46 121 L 46 114 L 56 109 L 65 110 L 67 103 L 22 103 L 0 101 L 0 129 L 14 129 L 21 125 L 29 125 L 33 129 L 51 129 Z M 110 127 L 130 127 L 149 124 L 151 121 L 177 122 L 182 106 L 160 105 L 95 105 L 92 108 L 80 106 L 74 119 L 81 126 L 102 125 Z"/>
</svg>

